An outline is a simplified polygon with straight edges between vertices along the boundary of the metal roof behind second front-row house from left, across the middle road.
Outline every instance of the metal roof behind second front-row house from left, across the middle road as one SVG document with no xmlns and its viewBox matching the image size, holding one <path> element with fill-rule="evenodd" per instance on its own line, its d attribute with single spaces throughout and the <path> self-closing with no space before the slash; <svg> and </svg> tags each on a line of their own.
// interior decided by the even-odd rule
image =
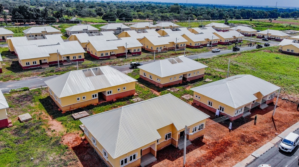
<svg viewBox="0 0 299 167">
<path fill-rule="evenodd" d="M 87 33 L 79 33 L 79 34 L 72 34 L 71 36 L 76 36 L 77 40 L 80 41 L 80 43 L 87 43 L 89 40 L 117 40 L 118 38 L 114 35 L 113 31 L 103 31 L 99 32 L 99 35 L 92 35 L 89 36 Z M 71 38 L 68 37 L 68 39 Z"/>
</svg>

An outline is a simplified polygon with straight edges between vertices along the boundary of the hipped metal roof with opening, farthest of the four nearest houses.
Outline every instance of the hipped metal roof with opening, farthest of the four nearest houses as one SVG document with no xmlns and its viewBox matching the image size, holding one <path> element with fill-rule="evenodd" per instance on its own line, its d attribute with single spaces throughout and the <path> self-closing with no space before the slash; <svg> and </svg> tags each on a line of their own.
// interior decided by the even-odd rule
<svg viewBox="0 0 299 167">
<path fill-rule="evenodd" d="M 170 63 L 175 62 L 175 63 Z M 178 63 L 176 63 L 178 62 Z M 180 63 L 181 62 L 181 63 Z M 175 57 L 170 59 L 164 59 L 138 66 L 138 68 L 155 74 L 159 77 L 167 77 L 175 74 L 181 74 L 188 71 L 194 71 L 208 66 L 203 65 L 195 60 L 187 57 Z"/>
</svg>

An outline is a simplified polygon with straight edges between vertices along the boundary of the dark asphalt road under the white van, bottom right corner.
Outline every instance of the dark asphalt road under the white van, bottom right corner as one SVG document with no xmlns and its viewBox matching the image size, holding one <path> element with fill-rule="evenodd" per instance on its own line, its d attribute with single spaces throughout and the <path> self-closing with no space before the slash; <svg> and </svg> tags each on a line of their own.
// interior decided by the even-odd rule
<svg viewBox="0 0 299 167">
<path fill-rule="evenodd" d="M 299 129 L 295 131 L 295 133 L 299 134 Z M 278 146 L 281 141 L 277 142 L 274 147 L 272 147 L 265 154 L 256 158 L 253 162 L 251 162 L 246 167 L 257 167 L 261 164 L 269 164 L 271 167 L 296 167 L 298 164 L 299 151 L 297 146 L 293 152 L 286 153 L 283 151 L 279 151 Z"/>
</svg>

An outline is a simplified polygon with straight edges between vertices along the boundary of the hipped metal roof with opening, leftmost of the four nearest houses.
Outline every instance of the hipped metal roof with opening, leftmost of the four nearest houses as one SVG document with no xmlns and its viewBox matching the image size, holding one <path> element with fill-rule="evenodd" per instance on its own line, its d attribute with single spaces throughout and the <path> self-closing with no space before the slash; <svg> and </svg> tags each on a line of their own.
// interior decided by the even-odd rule
<svg viewBox="0 0 299 167">
<path fill-rule="evenodd" d="M 85 75 L 94 74 L 92 71 L 97 71 L 100 75 Z M 135 81 L 137 80 L 110 66 L 102 66 L 70 71 L 45 83 L 57 97 L 61 98 Z"/>
</svg>

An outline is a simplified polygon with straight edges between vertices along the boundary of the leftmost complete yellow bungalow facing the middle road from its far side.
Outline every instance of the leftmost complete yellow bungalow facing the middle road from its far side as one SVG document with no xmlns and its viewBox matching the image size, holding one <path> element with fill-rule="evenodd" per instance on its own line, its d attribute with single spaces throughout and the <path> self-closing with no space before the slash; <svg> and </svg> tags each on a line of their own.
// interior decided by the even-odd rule
<svg viewBox="0 0 299 167">
<path fill-rule="evenodd" d="M 84 49 L 78 41 L 59 42 L 57 45 L 15 46 L 20 66 L 24 69 L 48 67 L 68 61 L 84 61 Z"/>
</svg>

